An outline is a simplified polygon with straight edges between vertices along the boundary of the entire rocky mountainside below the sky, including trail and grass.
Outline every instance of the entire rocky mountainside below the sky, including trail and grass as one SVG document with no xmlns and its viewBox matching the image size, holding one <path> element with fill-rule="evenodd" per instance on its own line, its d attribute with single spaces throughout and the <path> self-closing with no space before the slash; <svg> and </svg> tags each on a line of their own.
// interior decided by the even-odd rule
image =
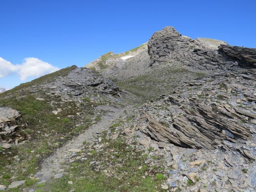
<svg viewBox="0 0 256 192">
<path fill-rule="evenodd" d="M 255 192 L 256 49 L 173 27 L 0 94 L 0 191 Z"/>
</svg>

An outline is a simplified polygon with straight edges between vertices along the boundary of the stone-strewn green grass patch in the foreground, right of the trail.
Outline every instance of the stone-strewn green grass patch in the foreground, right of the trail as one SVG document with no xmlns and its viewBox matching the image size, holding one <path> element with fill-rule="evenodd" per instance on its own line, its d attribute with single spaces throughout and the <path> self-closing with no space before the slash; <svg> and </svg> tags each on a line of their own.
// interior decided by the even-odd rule
<svg viewBox="0 0 256 192">
<path fill-rule="evenodd" d="M 103 138 L 104 136 L 102 136 Z M 89 150 L 89 149 L 88 149 Z M 92 151 L 89 151 L 92 153 Z M 86 153 L 86 151 L 84 152 Z M 125 140 L 110 140 L 104 150 L 97 152 L 97 156 L 87 156 L 87 160 L 77 166 L 69 167 L 64 175 L 54 180 L 50 187 L 45 188 L 48 192 L 164 192 L 161 188 L 164 175 L 157 168 L 150 170 L 145 163 L 141 152 L 126 144 Z M 101 170 L 109 170 L 114 176 L 108 176 L 104 171 L 97 169 L 95 161 Z M 122 162 L 122 165 L 118 165 Z M 113 169 L 114 168 L 114 169 Z M 158 173 L 157 173 L 158 172 Z M 73 184 L 68 184 L 72 181 Z"/>
</svg>

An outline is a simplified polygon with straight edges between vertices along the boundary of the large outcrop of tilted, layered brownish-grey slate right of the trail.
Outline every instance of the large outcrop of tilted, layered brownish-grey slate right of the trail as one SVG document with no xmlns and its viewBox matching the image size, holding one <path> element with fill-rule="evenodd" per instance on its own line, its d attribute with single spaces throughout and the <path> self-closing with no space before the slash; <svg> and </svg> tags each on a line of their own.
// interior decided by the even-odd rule
<svg viewBox="0 0 256 192">
<path fill-rule="evenodd" d="M 240 74 L 241 73 L 241 74 Z M 256 133 L 256 71 L 224 72 L 180 86 L 142 108 L 154 140 L 184 148 L 238 150 L 254 159 L 245 141 Z"/>
</svg>

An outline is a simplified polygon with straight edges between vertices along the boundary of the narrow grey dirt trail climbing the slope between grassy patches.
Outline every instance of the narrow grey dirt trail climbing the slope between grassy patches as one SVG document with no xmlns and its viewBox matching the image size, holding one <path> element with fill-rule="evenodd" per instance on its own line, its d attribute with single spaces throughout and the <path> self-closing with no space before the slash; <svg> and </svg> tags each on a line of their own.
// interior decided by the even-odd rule
<svg viewBox="0 0 256 192">
<path fill-rule="evenodd" d="M 102 116 L 102 120 L 97 124 L 92 125 L 84 133 L 80 134 L 76 138 L 70 140 L 66 145 L 59 148 L 56 153 L 48 157 L 42 163 L 42 169 L 38 173 L 42 180 L 47 181 L 52 176 L 56 174 L 62 174 L 63 163 L 69 162 L 72 158 L 72 152 L 79 151 L 83 146 L 83 142 L 91 142 L 93 136 L 97 132 L 101 132 L 104 128 L 109 127 L 113 122 L 118 119 L 125 110 L 130 110 L 132 106 L 127 106 L 125 108 L 104 108 L 107 111 L 106 115 Z"/>
</svg>

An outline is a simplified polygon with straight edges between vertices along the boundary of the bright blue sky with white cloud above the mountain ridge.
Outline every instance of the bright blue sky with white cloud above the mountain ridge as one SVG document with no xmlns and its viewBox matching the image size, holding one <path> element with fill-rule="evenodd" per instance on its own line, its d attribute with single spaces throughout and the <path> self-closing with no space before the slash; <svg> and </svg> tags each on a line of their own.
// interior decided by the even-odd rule
<svg viewBox="0 0 256 192">
<path fill-rule="evenodd" d="M 256 48 L 255 10 L 254 0 L 0 0 L 0 86 L 40 76 L 33 74 L 34 58 L 47 68 L 43 73 L 82 67 L 137 47 L 164 26 Z"/>
</svg>

